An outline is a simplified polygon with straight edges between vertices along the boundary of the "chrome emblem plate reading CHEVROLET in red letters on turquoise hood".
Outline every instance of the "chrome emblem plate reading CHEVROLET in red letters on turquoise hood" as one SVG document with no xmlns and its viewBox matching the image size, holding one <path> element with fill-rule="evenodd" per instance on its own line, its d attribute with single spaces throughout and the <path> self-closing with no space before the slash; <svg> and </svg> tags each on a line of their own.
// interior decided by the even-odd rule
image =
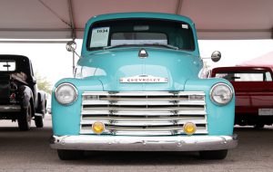
<svg viewBox="0 0 273 172">
<path fill-rule="evenodd" d="M 152 75 L 136 75 L 120 78 L 120 83 L 167 83 L 167 78 L 156 77 Z"/>
</svg>

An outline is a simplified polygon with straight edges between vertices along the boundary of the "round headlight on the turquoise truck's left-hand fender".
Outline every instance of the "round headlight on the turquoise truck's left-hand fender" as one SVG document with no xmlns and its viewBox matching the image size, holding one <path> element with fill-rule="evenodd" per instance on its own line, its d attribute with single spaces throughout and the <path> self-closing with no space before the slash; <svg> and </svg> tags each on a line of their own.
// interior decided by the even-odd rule
<svg viewBox="0 0 273 172">
<path fill-rule="evenodd" d="M 56 88 L 55 97 L 60 104 L 70 104 L 77 98 L 76 88 L 71 83 L 62 83 Z"/>
</svg>

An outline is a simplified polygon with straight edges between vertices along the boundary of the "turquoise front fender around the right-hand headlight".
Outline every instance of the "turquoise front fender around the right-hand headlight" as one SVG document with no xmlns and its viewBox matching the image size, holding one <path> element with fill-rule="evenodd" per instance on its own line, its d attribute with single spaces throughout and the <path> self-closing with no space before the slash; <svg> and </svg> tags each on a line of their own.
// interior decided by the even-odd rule
<svg viewBox="0 0 273 172">
<path fill-rule="evenodd" d="M 227 105 L 219 106 L 210 99 L 210 90 L 218 82 L 227 83 L 234 89 L 230 82 L 224 79 L 197 79 L 188 80 L 185 91 L 205 91 L 207 110 L 207 130 L 209 135 L 232 135 L 234 128 L 235 95 Z"/>
</svg>

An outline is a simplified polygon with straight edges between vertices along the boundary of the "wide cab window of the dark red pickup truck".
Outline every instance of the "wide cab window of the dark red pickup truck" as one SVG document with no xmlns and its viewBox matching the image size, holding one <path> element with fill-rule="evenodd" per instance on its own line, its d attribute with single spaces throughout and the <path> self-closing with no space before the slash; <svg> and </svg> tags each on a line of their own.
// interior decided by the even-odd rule
<svg viewBox="0 0 273 172">
<path fill-rule="evenodd" d="M 220 72 L 216 78 L 224 78 L 227 81 L 272 81 L 270 72 Z"/>
</svg>

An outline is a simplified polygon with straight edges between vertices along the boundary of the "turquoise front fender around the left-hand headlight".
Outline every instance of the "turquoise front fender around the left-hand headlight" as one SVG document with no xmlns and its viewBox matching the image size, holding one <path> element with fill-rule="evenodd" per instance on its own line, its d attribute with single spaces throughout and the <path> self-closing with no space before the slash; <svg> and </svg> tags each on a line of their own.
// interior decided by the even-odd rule
<svg viewBox="0 0 273 172">
<path fill-rule="evenodd" d="M 76 87 L 77 99 L 70 105 L 61 105 L 56 101 L 56 87 L 61 83 L 71 83 Z M 96 79 L 63 79 L 58 81 L 52 92 L 52 125 L 57 136 L 78 135 L 80 130 L 82 94 L 84 91 L 103 91 L 103 86 Z"/>
</svg>

